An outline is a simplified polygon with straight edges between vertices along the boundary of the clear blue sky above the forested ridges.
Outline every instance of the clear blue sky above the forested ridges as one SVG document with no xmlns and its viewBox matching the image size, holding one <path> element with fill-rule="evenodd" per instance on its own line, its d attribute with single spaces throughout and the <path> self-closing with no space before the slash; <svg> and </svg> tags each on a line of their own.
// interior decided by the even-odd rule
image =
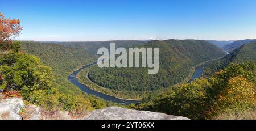
<svg viewBox="0 0 256 131">
<path fill-rule="evenodd" d="M 0 0 L 18 40 L 256 39 L 255 0 Z"/>
</svg>

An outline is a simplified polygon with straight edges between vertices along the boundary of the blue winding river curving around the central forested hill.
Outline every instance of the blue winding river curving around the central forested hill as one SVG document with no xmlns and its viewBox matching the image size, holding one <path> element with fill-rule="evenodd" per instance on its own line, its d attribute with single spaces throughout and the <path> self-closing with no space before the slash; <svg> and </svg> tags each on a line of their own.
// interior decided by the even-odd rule
<svg viewBox="0 0 256 131">
<path fill-rule="evenodd" d="M 106 95 L 103 94 L 101 92 L 98 91 L 94 91 L 92 89 L 90 89 L 89 87 L 85 86 L 84 84 L 81 84 L 78 79 L 77 79 L 77 74 L 82 70 L 85 69 L 89 66 L 92 66 L 94 64 L 96 64 L 97 62 L 94 62 L 92 64 L 88 64 L 88 65 L 84 65 L 82 66 L 80 69 L 77 69 L 75 71 L 73 71 L 73 73 L 71 73 L 70 75 L 68 75 L 68 81 L 75 84 L 77 87 L 79 87 L 82 91 L 86 92 L 87 94 L 92 94 L 92 95 L 96 95 L 104 100 L 109 100 L 111 102 L 115 102 L 115 103 L 119 103 L 119 104 L 131 104 L 131 103 L 138 103 L 140 101 L 138 100 L 125 100 L 125 99 L 119 99 L 119 98 L 115 98 L 114 96 L 111 95 Z M 196 68 L 195 72 L 193 73 L 193 76 L 191 78 L 191 80 L 189 81 L 192 82 L 194 81 L 196 78 L 200 78 L 201 74 L 203 72 L 203 66 L 199 66 Z"/>
</svg>

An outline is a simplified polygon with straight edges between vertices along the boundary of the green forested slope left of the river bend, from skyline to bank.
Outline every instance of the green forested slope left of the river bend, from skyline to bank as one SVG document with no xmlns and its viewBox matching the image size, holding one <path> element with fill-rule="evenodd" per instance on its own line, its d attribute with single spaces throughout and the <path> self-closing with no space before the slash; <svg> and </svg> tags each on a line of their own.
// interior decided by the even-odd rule
<svg viewBox="0 0 256 131">
<path fill-rule="evenodd" d="M 22 41 L 21 47 L 22 52 L 40 57 L 44 65 L 52 68 L 55 77 L 52 81 L 56 81 L 56 84 L 52 87 L 61 92 L 63 97 L 65 97 L 61 103 L 67 104 L 65 105 L 67 110 L 84 111 L 84 109 L 103 108 L 108 104 L 114 105 L 114 103 L 105 102 L 105 100 L 85 94 L 68 81 L 67 75 L 69 73 L 77 67 L 96 60 L 95 57 L 92 57 L 84 49 L 68 48 L 57 44 L 35 43 L 32 41 Z M 58 98 L 61 94 L 53 95 L 55 98 Z M 52 99 L 54 100 L 55 98 Z M 44 101 L 47 100 L 44 99 Z"/>
</svg>

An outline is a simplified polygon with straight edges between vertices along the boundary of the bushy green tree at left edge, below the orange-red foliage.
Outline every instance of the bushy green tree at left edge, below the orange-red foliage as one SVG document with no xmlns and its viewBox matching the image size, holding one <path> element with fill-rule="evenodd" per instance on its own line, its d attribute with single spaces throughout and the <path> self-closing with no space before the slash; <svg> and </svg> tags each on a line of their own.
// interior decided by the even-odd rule
<svg viewBox="0 0 256 131">
<path fill-rule="evenodd" d="M 51 87 L 52 71 L 42 65 L 36 56 L 9 53 L 5 54 L 0 62 L 0 73 L 7 82 L 7 90 L 22 89 L 24 92 Z"/>
</svg>

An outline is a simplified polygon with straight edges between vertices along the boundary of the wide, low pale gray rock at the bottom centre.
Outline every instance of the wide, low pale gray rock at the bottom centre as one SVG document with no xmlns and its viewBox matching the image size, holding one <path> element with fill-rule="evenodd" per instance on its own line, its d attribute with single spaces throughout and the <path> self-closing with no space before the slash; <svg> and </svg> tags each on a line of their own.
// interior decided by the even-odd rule
<svg viewBox="0 0 256 131">
<path fill-rule="evenodd" d="M 164 113 L 137 111 L 121 107 L 97 109 L 84 117 L 84 120 L 189 120 L 182 116 L 172 116 Z"/>
</svg>

